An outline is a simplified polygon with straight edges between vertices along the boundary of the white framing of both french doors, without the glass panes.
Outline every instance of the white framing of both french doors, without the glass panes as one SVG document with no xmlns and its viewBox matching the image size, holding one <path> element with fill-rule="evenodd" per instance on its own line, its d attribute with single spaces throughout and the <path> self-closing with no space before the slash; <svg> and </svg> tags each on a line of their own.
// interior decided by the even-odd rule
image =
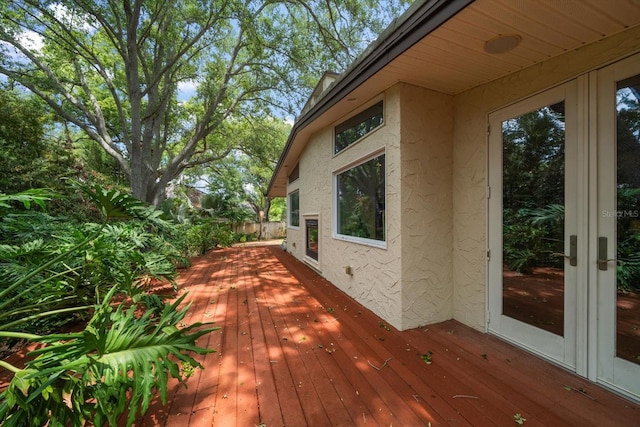
<svg viewBox="0 0 640 427">
<path fill-rule="evenodd" d="M 490 124 L 487 138 L 487 331 L 636 401 L 640 400 L 640 365 L 618 358 L 615 350 L 615 268 L 610 265 L 609 271 L 600 271 L 597 260 L 601 236 L 609 239 L 609 258 L 615 258 L 616 254 L 615 218 L 601 215 L 602 209 L 617 209 L 615 194 L 611 194 L 616 182 L 616 152 L 615 144 L 610 142 L 616 131 L 616 82 L 638 74 L 640 53 L 492 111 L 487 117 Z M 564 98 L 558 96 L 563 92 Z M 557 340 L 548 336 L 553 334 L 502 315 L 501 123 L 562 99 L 565 99 L 567 144 L 575 138 L 573 154 L 568 146 L 565 147 L 565 172 L 575 180 L 573 189 L 565 184 L 565 194 L 571 191 L 576 194 L 576 212 L 567 211 L 565 216 L 565 226 L 571 223 L 571 220 L 567 221 L 570 215 L 575 217 L 575 228 L 565 228 L 565 253 L 569 253 L 568 236 L 576 234 L 578 263 L 573 271 L 565 263 L 565 273 L 572 271 L 574 278 L 571 280 L 575 280 L 573 290 L 567 288 L 570 282 L 565 282 L 565 312 L 572 310 L 573 313 L 568 313 L 569 319 L 565 313 L 565 337 Z M 496 138 L 500 141 L 496 142 Z M 607 285 L 612 281 L 614 291 Z M 567 305 L 568 301 L 575 305 Z M 522 339 L 519 334 L 523 331 L 531 336 Z M 548 351 L 545 340 L 555 341 L 561 350 Z"/>
</svg>

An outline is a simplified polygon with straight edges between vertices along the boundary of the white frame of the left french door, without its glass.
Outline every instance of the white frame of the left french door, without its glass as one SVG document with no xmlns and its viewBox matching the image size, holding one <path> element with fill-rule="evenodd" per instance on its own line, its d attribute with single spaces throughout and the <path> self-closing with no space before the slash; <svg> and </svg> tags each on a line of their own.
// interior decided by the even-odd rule
<svg viewBox="0 0 640 427">
<path fill-rule="evenodd" d="M 581 85 L 584 83 L 577 79 L 572 80 L 501 108 L 488 116 L 490 132 L 487 235 L 490 252 L 487 266 L 487 330 L 572 371 L 584 370 L 585 363 L 581 355 L 583 351 L 579 351 L 578 347 L 586 344 L 582 337 L 586 333 L 583 329 L 586 328 L 579 326 L 585 323 L 578 322 L 578 319 L 584 318 L 586 312 L 586 308 L 578 307 L 578 302 L 585 297 L 577 286 L 579 267 L 570 266 L 569 261 L 565 261 L 563 337 L 502 314 L 502 122 L 547 105 L 565 102 L 565 253 L 568 254 L 569 235 L 585 235 L 582 228 L 586 227 L 586 201 L 582 196 L 584 193 L 579 191 L 579 187 L 584 185 L 579 178 L 587 173 L 580 169 L 579 163 L 579 160 L 586 156 L 584 147 L 578 143 L 581 140 L 578 120 L 580 115 L 584 114 L 578 109 L 579 97 L 582 95 Z M 575 195 L 575 198 L 572 195 Z M 586 250 L 581 249 L 581 246 L 585 245 L 578 241 L 578 266 L 586 255 Z"/>
</svg>

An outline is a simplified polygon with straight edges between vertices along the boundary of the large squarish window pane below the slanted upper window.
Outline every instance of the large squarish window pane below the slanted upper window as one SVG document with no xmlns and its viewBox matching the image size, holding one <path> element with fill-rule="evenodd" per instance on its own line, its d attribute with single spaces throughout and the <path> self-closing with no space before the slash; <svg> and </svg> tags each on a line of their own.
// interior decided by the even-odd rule
<svg viewBox="0 0 640 427">
<path fill-rule="evenodd" d="M 385 155 L 336 176 L 339 235 L 385 240 Z"/>
</svg>

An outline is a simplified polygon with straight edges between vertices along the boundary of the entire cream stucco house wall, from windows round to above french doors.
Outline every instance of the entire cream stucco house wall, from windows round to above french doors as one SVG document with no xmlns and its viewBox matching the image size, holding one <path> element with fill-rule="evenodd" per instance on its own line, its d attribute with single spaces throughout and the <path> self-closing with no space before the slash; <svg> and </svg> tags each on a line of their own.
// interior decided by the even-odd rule
<svg viewBox="0 0 640 427">
<path fill-rule="evenodd" d="M 385 124 L 357 144 L 334 156 L 333 126 L 309 140 L 300 178 L 288 189 L 301 188 L 300 228 L 288 230 L 288 250 L 305 259 L 304 218 L 317 215 L 320 256 L 307 262 L 391 325 L 453 317 L 485 330 L 488 114 L 638 49 L 635 28 L 454 98 L 393 86 L 354 111 L 384 99 Z M 380 149 L 387 166 L 386 248 L 336 239 L 333 175 Z"/>
</svg>

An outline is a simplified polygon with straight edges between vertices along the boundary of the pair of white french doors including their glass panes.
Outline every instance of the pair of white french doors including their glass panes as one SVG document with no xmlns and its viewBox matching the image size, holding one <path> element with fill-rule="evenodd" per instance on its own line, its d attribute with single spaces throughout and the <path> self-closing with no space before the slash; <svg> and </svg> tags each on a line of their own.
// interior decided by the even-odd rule
<svg viewBox="0 0 640 427">
<path fill-rule="evenodd" d="M 640 400 L 640 56 L 489 124 L 489 331 Z"/>
</svg>

